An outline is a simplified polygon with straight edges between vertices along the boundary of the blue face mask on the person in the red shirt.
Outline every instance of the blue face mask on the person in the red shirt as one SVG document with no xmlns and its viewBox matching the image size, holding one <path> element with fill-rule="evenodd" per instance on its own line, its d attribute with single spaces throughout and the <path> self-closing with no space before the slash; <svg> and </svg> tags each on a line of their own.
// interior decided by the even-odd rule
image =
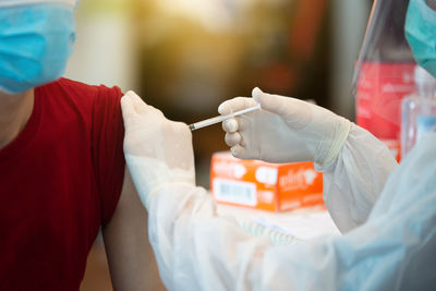
<svg viewBox="0 0 436 291">
<path fill-rule="evenodd" d="M 74 8 L 64 3 L 0 9 L 0 90 L 17 94 L 59 78 L 73 51 Z"/>
</svg>

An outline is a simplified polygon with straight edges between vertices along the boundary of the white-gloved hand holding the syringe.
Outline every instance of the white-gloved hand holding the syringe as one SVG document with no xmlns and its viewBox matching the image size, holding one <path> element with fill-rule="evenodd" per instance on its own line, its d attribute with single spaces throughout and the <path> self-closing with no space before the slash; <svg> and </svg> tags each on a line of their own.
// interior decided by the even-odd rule
<svg viewBox="0 0 436 291">
<path fill-rule="evenodd" d="M 261 104 L 262 110 L 222 123 L 234 157 L 268 162 L 315 161 L 325 166 L 339 154 L 351 123 L 327 109 L 295 98 L 253 89 L 253 98 L 222 102 L 228 114 Z"/>
</svg>

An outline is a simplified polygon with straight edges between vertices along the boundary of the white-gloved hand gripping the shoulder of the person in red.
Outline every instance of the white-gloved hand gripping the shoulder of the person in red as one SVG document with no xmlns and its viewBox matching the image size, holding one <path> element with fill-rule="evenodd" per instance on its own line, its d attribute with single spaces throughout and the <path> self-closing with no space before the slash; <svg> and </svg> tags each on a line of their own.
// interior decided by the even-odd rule
<svg viewBox="0 0 436 291">
<path fill-rule="evenodd" d="M 195 185 L 192 134 L 187 125 L 165 118 L 134 92 L 121 98 L 124 155 L 140 197 L 148 209 L 158 190 L 170 184 Z"/>
</svg>

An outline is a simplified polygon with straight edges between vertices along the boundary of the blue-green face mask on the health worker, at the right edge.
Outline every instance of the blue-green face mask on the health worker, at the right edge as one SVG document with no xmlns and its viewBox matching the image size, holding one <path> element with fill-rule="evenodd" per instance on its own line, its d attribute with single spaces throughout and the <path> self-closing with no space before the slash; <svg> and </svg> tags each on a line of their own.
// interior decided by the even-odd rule
<svg viewBox="0 0 436 291">
<path fill-rule="evenodd" d="M 426 0 L 410 0 L 405 38 L 417 64 L 436 76 L 436 11 Z"/>
</svg>

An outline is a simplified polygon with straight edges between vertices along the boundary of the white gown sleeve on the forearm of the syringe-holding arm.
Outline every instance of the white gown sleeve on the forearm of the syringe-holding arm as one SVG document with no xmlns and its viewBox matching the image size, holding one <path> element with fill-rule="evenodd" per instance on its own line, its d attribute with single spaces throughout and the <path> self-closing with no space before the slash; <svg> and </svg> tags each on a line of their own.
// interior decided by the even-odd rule
<svg viewBox="0 0 436 291">
<path fill-rule="evenodd" d="M 324 201 L 341 232 L 366 221 L 397 166 L 385 144 L 352 124 L 339 156 L 323 169 Z"/>
</svg>

